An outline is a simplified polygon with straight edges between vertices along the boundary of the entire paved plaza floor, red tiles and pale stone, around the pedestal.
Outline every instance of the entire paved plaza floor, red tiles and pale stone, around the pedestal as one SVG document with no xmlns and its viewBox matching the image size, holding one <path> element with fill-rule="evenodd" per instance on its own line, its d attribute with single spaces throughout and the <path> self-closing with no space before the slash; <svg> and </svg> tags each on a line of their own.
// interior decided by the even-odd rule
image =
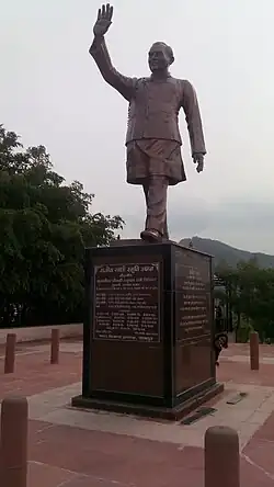
<svg viewBox="0 0 274 487">
<path fill-rule="evenodd" d="M 28 487 L 202 487 L 204 433 L 216 424 L 239 433 L 241 487 L 273 486 L 274 348 L 260 351 L 260 371 L 252 372 L 248 346 L 230 346 L 218 370 L 225 393 L 208 403 L 216 411 L 182 426 L 72 409 L 70 398 L 81 389 L 80 342 L 61 343 L 59 365 L 49 364 L 46 343 L 19 346 L 11 375 L 3 374 L 0 348 L 0 399 L 28 397 Z M 247 396 L 227 403 L 239 393 Z"/>
</svg>

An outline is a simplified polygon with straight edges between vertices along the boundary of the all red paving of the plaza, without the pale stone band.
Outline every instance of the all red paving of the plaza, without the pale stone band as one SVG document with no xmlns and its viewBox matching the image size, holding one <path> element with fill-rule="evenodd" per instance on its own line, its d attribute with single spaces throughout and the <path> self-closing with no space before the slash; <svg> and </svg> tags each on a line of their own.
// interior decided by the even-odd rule
<svg viewBox="0 0 274 487">
<path fill-rule="evenodd" d="M 231 353 L 233 352 L 233 353 Z M 247 346 L 229 349 L 244 355 Z M 262 349 L 273 356 L 272 349 Z M 267 353 L 267 355 L 266 355 Z M 226 354 L 229 359 L 228 353 Z M 220 381 L 274 386 L 274 365 L 259 373 L 248 363 L 221 361 Z M 16 372 L 3 375 L 0 362 L 0 398 L 10 393 L 33 395 L 80 381 L 80 353 L 61 353 L 60 364 L 49 364 L 49 353 L 16 356 Z M 241 458 L 241 487 L 274 485 L 274 414 L 256 431 Z M 88 431 L 44 421 L 30 421 L 28 487 L 202 487 L 203 449 Z M 115 483 L 115 484 L 114 484 Z"/>
</svg>

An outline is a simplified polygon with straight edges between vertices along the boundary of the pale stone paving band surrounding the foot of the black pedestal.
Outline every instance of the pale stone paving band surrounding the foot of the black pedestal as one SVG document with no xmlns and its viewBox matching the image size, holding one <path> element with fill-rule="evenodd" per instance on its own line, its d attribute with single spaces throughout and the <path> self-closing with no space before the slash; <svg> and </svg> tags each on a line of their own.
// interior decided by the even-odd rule
<svg viewBox="0 0 274 487">
<path fill-rule="evenodd" d="M 274 400 L 272 401 L 274 390 L 271 387 L 229 383 L 227 385 L 228 396 L 221 397 L 214 405 L 216 412 L 196 423 L 183 426 L 114 412 L 71 408 L 68 403 L 79 388 L 80 383 L 77 383 L 69 387 L 52 389 L 33 396 L 30 400 L 31 418 L 91 431 L 104 431 L 199 448 L 204 444 L 204 434 L 207 428 L 229 426 L 239 432 L 240 445 L 243 448 L 274 411 Z M 230 394 L 235 396 L 240 392 L 247 392 L 247 397 L 237 405 L 228 405 L 227 398 L 230 397 Z M 267 408 L 264 407 L 265 404 L 267 404 Z"/>
</svg>

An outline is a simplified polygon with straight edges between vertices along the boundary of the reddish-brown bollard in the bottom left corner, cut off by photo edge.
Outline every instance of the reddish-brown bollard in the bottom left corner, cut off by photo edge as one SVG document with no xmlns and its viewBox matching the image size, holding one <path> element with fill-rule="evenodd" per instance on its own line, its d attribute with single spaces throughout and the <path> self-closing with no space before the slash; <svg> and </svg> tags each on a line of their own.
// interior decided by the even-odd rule
<svg viewBox="0 0 274 487">
<path fill-rule="evenodd" d="M 26 487 L 27 477 L 27 400 L 7 397 L 1 410 L 1 486 Z"/>
</svg>

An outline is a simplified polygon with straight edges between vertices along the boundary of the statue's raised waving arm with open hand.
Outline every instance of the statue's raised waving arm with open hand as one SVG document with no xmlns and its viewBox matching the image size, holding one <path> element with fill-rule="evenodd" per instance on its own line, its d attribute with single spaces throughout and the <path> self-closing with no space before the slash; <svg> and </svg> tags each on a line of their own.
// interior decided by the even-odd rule
<svg viewBox="0 0 274 487">
<path fill-rule="evenodd" d="M 104 39 L 104 35 L 112 24 L 112 18 L 113 7 L 110 3 L 99 9 L 98 19 L 93 27 L 94 39 L 89 52 L 104 80 L 115 88 L 127 101 L 130 101 L 136 80 L 121 75 L 114 68 Z"/>
</svg>

